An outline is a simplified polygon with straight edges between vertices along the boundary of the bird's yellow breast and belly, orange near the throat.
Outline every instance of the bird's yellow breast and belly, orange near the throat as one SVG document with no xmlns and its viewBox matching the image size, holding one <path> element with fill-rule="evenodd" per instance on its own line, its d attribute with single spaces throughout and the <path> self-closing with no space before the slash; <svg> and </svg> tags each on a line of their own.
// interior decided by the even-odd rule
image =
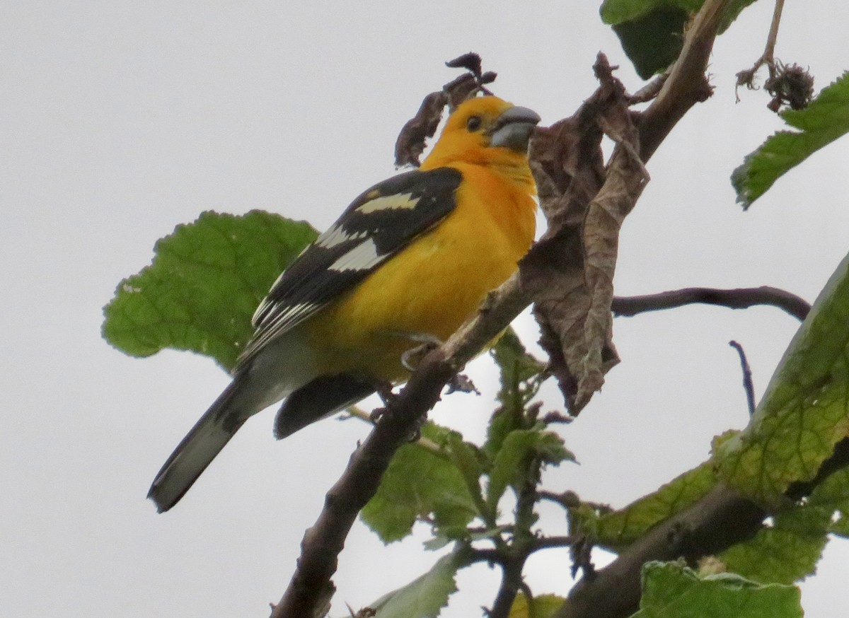
<svg viewBox="0 0 849 618">
<path fill-rule="evenodd" d="M 474 182 L 460 184 L 451 215 L 303 324 L 322 373 L 406 379 L 413 337 L 446 340 L 516 270 L 534 238 L 532 194 L 484 167 L 457 167 Z"/>
</svg>

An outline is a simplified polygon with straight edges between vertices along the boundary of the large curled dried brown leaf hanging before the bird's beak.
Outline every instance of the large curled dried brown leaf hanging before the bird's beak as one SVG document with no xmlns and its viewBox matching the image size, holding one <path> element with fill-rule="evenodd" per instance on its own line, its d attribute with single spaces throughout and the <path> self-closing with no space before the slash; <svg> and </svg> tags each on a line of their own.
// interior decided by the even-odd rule
<svg viewBox="0 0 849 618">
<path fill-rule="evenodd" d="M 531 143 L 548 231 L 521 264 L 540 344 L 572 414 L 619 362 L 610 313 L 619 228 L 647 179 L 625 89 L 603 54 L 595 70 L 601 85 L 593 96 L 576 115 L 540 129 Z M 617 143 L 606 171 L 604 134 Z"/>
</svg>

